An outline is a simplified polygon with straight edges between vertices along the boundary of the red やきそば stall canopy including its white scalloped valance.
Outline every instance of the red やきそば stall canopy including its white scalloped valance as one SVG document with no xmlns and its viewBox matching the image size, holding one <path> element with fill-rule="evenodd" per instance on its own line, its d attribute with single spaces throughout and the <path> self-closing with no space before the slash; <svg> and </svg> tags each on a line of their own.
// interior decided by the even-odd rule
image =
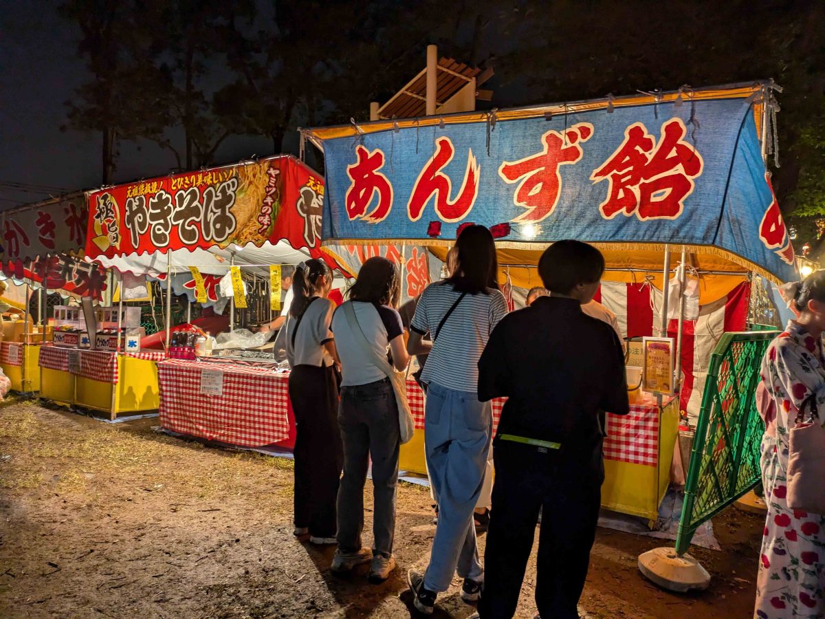
<svg viewBox="0 0 825 619">
<path fill-rule="evenodd" d="M 321 250 L 323 178 L 289 155 L 103 187 L 87 196 L 86 253 L 120 272 L 334 260 Z"/>
</svg>

